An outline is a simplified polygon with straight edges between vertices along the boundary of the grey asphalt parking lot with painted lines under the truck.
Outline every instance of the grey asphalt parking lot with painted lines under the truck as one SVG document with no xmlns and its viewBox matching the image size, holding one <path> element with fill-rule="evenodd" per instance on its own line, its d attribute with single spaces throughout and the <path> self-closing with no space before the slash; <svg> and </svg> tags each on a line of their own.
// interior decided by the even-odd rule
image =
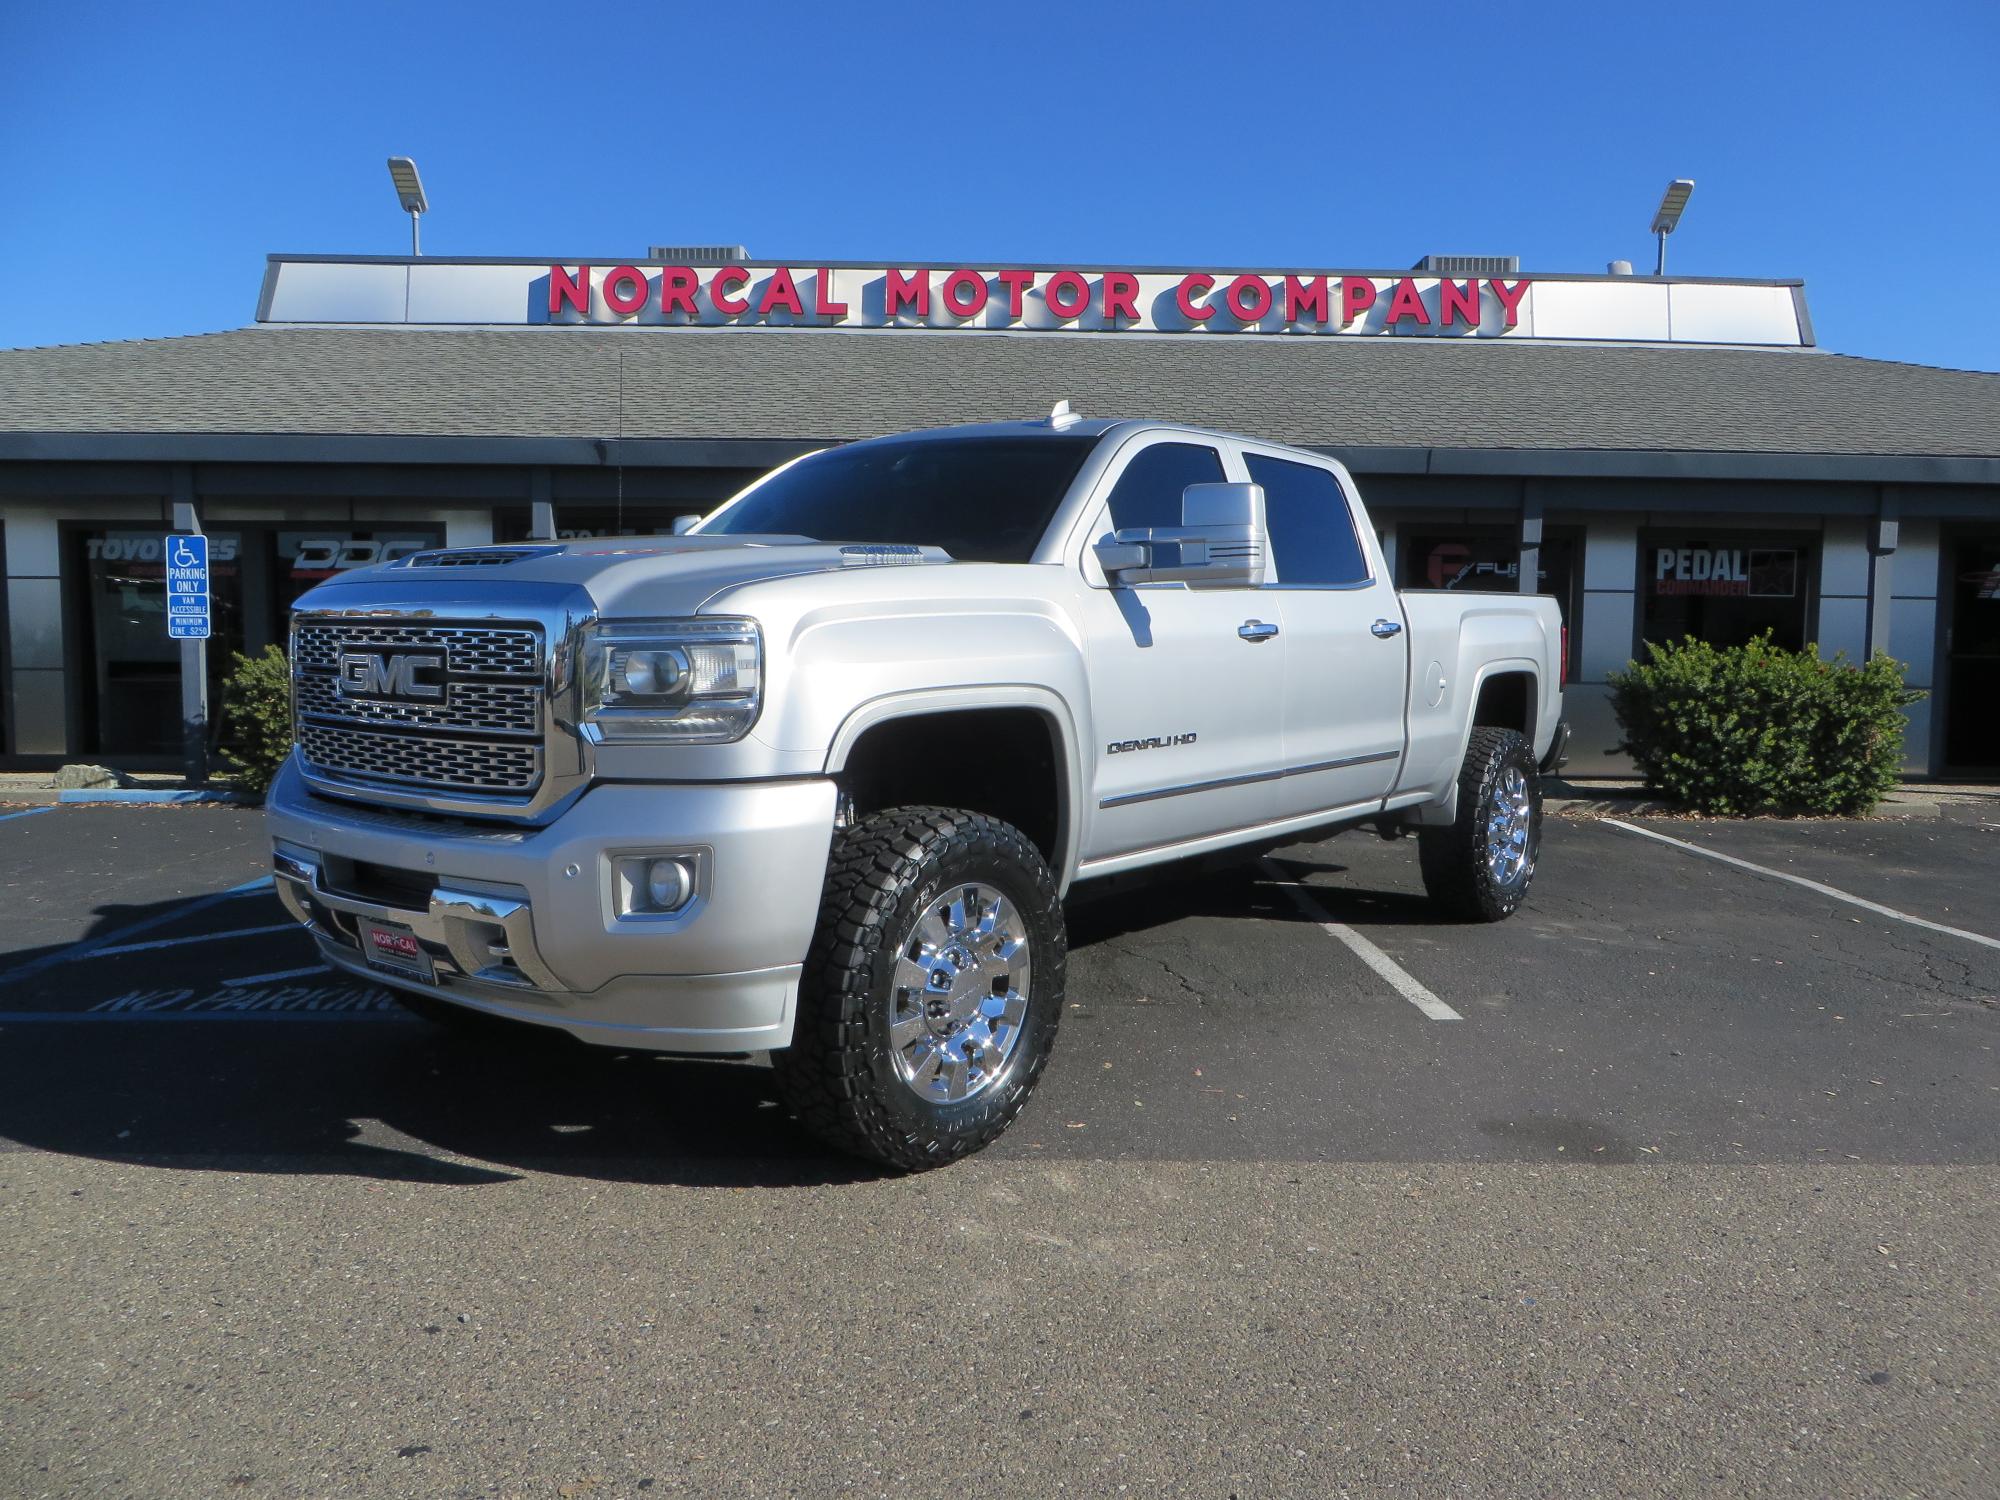
<svg viewBox="0 0 2000 1500">
<path fill-rule="evenodd" d="M 2000 828 L 1644 828 L 1762 872 L 1078 902 L 1028 1114 L 884 1180 L 318 968 L 256 814 L 0 818 L 0 1492 L 2000 1492 Z"/>
</svg>

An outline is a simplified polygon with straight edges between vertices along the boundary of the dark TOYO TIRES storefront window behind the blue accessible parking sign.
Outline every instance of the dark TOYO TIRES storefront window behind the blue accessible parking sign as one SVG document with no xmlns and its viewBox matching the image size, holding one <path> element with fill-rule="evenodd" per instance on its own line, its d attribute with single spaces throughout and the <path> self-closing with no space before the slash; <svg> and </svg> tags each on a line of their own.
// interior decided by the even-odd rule
<svg viewBox="0 0 2000 1500">
<path fill-rule="evenodd" d="M 180 642 L 166 634 L 166 534 L 94 528 L 72 536 L 84 612 L 84 748 L 98 754 L 180 754 Z M 244 538 L 208 534 L 208 700 L 220 702 L 230 652 L 244 646 Z"/>
</svg>

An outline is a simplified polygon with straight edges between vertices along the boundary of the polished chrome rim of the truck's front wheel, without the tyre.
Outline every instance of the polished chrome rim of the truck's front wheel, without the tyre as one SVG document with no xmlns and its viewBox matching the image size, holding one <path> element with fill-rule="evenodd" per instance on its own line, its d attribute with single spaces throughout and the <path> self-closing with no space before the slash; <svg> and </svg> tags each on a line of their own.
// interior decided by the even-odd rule
<svg viewBox="0 0 2000 1500">
<path fill-rule="evenodd" d="M 1028 1018 L 1028 926 L 992 886 L 944 890 L 896 958 L 888 1046 L 918 1098 L 956 1104 L 1006 1072 Z"/>
</svg>

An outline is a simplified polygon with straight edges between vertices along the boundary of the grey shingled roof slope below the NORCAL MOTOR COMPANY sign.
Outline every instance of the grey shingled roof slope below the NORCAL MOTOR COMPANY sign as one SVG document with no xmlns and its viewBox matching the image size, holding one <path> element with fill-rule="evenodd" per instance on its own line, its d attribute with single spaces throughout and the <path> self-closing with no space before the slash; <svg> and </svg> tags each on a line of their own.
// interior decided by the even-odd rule
<svg viewBox="0 0 2000 1500">
<path fill-rule="evenodd" d="M 2000 456 L 2000 374 L 1440 338 L 244 328 L 0 352 L 4 432 L 862 438 L 1056 398 L 1282 442 Z"/>
</svg>

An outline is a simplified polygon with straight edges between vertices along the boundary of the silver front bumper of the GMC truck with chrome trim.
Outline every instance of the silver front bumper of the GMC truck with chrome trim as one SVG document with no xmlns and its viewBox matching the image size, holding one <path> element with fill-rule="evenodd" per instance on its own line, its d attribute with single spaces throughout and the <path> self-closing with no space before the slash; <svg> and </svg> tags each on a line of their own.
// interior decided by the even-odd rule
<svg viewBox="0 0 2000 1500">
<path fill-rule="evenodd" d="M 316 796 L 288 766 L 266 808 L 278 896 L 342 970 L 604 1046 L 792 1040 L 832 782 L 602 784 L 542 828 L 510 828 Z M 618 914 L 612 856 L 690 846 L 706 884 L 684 912 Z M 434 982 L 370 964 L 362 922 L 408 930 Z"/>
</svg>

